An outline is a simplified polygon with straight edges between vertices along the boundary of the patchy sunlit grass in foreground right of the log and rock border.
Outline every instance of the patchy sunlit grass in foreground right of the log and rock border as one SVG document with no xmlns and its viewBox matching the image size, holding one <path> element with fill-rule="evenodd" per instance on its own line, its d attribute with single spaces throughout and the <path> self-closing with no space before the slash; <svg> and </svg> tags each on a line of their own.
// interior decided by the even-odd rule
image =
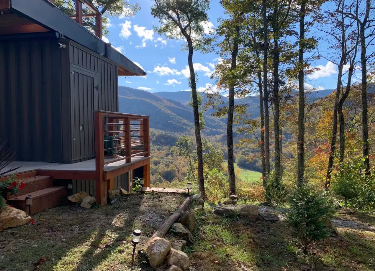
<svg viewBox="0 0 375 271">
<path fill-rule="evenodd" d="M 313 244 L 304 255 L 285 222 L 247 222 L 207 214 L 187 248 L 197 271 L 373 270 L 375 235 L 350 232 Z M 285 268 L 285 269 L 282 269 Z"/>
</svg>

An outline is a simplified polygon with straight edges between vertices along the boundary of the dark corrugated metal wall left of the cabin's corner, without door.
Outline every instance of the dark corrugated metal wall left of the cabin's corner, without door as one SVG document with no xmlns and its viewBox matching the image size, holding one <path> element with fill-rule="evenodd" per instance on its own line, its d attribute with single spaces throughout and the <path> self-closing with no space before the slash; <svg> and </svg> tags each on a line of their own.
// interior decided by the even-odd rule
<svg viewBox="0 0 375 271">
<path fill-rule="evenodd" d="M 57 39 L 0 42 L 0 139 L 16 160 L 62 162 Z"/>
</svg>

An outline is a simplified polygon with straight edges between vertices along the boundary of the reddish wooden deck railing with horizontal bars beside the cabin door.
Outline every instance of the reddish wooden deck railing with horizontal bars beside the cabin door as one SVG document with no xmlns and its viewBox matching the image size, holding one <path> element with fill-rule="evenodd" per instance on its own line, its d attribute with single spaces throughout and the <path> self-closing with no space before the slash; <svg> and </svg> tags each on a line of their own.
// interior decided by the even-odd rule
<svg viewBox="0 0 375 271">
<path fill-rule="evenodd" d="M 113 180 L 105 180 L 105 165 L 121 165 L 134 162 L 135 157 L 150 156 L 149 117 L 108 111 L 94 112 L 95 163 L 97 201 L 107 201 L 107 187 Z M 139 160 L 139 159 L 136 159 Z M 125 166 L 125 165 L 124 165 Z M 150 165 L 144 166 L 145 186 L 149 185 Z M 129 180 L 131 181 L 131 180 Z"/>
</svg>

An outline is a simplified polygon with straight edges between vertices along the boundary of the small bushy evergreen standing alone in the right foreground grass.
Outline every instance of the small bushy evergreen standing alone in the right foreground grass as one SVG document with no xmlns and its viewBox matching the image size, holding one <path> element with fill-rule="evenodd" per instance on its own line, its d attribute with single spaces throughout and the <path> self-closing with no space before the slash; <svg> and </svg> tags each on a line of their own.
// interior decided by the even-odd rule
<svg viewBox="0 0 375 271">
<path fill-rule="evenodd" d="M 335 210 L 332 198 L 324 191 L 305 185 L 296 189 L 289 198 L 290 211 L 287 222 L 292 226 L 294 234 L 299 238 L 304 252 L 315 240 L 329 236 L 327 221 Z"/>
</svg>

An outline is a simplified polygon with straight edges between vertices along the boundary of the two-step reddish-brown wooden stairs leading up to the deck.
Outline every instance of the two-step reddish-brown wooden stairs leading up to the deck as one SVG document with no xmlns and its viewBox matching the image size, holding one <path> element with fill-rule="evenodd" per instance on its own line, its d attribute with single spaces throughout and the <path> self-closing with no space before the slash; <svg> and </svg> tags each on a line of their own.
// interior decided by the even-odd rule
<svg viewBox="0 0 375 271">
<path fill-rule="evenodd" d="M 56 207 L 66 195 L 65 186 L 53 186 L 51 176 L 31 176 L 23 179 L 24 188 L 18 194 L 8 195 L 7 202 L 13 207 L 32 215 Z M 32 205 L 26 205 L 31 196 Z"/>
</svg>

